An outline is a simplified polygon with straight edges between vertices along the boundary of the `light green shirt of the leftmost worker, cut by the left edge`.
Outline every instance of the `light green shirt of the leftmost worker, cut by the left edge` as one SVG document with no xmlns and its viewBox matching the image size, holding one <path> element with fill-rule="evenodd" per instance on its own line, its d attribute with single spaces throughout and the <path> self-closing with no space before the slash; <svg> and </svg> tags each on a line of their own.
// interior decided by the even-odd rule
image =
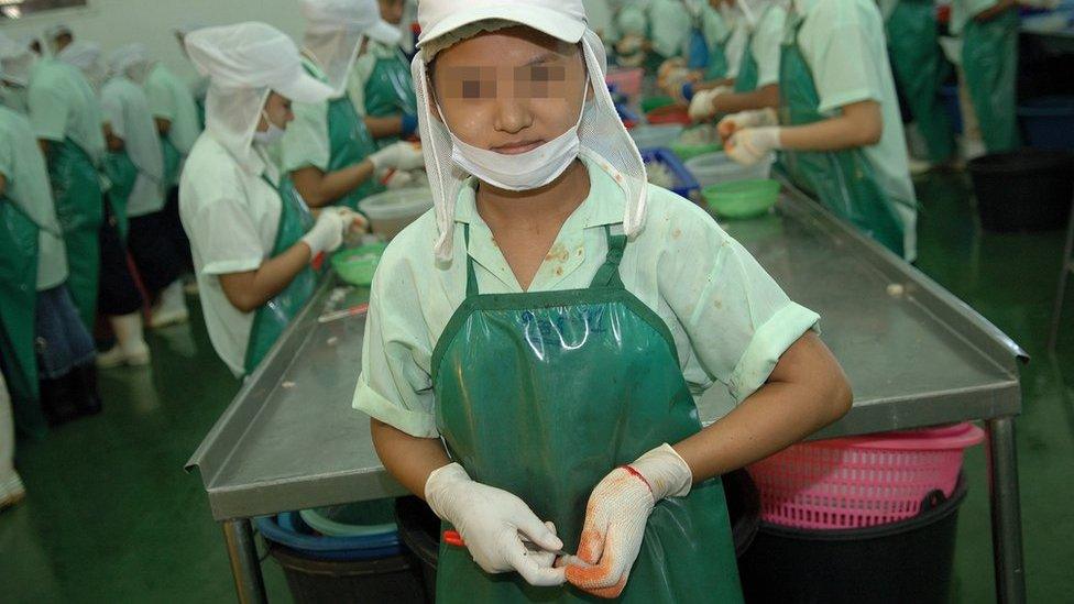
<svg viewBox="0 0 1074 604">
<path fill-rule="evenodd" d="M 4 196 L 18 204 L 41 232 L 37 238 L 37 290 L 67 281 L 67 251 L 48 185 L 45 158 L 26 118 L 0 107 L 0 174 Z"/>
</svg>

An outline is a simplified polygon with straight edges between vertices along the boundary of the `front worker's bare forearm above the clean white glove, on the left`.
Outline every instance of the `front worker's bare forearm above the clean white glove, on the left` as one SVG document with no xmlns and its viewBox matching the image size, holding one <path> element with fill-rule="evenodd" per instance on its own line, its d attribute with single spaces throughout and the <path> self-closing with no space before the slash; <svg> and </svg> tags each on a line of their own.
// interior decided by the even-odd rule
<svg viewBox="0 0 1074 604">
<path fill-rule="evenodd" d="M 370 431 L 384 468 L 407 491 L 423 499 L 429 474 L 451 463 L 440 439 L 413 437 L 377 419 L 370 420 Z"/>
</svg>

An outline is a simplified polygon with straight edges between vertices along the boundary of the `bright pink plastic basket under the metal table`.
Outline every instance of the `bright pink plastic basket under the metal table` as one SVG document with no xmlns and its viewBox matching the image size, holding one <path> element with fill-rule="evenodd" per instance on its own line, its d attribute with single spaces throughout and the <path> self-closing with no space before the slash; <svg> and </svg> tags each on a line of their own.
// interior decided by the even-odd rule
<svg viewBox="0 0 1074 604">
<path fill-rule="evenodd" d="M 761 519 L 806 529 L 847 529 L 917 516 L 933 491 L 951 496 L 972 424 L 791 446 L 749 466 Z"/>
</svg>

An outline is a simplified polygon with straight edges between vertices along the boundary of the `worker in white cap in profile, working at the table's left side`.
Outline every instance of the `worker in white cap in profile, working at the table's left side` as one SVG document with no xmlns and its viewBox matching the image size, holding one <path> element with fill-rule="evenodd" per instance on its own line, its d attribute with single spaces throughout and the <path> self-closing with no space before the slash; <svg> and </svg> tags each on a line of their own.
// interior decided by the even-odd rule
<svg viewBox="0 0 1074 604">
<path fill-rule="evenodd" d="M 313 295 L 310 263 L 363 223 L 327 209 L 316 219 L 285 188 L 266 146 L 294 119 L 292 101 L 332 95 L 309 76 L 289 37 L 264 23 L 204 28 L 186 36 L 209 76 L 206 130 L 179 180 L 209 338 L 235 375 L 252 372 Z"/>
</svg>

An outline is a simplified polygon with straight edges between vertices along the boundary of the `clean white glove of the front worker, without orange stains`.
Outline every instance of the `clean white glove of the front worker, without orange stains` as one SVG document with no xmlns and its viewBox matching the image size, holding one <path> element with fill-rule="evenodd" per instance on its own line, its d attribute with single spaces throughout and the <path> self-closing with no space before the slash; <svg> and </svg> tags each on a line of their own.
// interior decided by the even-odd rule
<svg viewBox="0 0 1074 604">
<path fill-rule="evenodd" d="M 566 581 L 565 569 L 554 568 L 563 542 L 555 526 L 544 524 L 522 499 L 474 482 L 458 463 L 440 468 L 425 483 L 425 501 L 441 519 L 451 523 L 474 562 L 487 573 L 517 571 L 530 585 L 555 586 Z M 522 536 L 546 550 L 526 548 Z"/>
</svg>

